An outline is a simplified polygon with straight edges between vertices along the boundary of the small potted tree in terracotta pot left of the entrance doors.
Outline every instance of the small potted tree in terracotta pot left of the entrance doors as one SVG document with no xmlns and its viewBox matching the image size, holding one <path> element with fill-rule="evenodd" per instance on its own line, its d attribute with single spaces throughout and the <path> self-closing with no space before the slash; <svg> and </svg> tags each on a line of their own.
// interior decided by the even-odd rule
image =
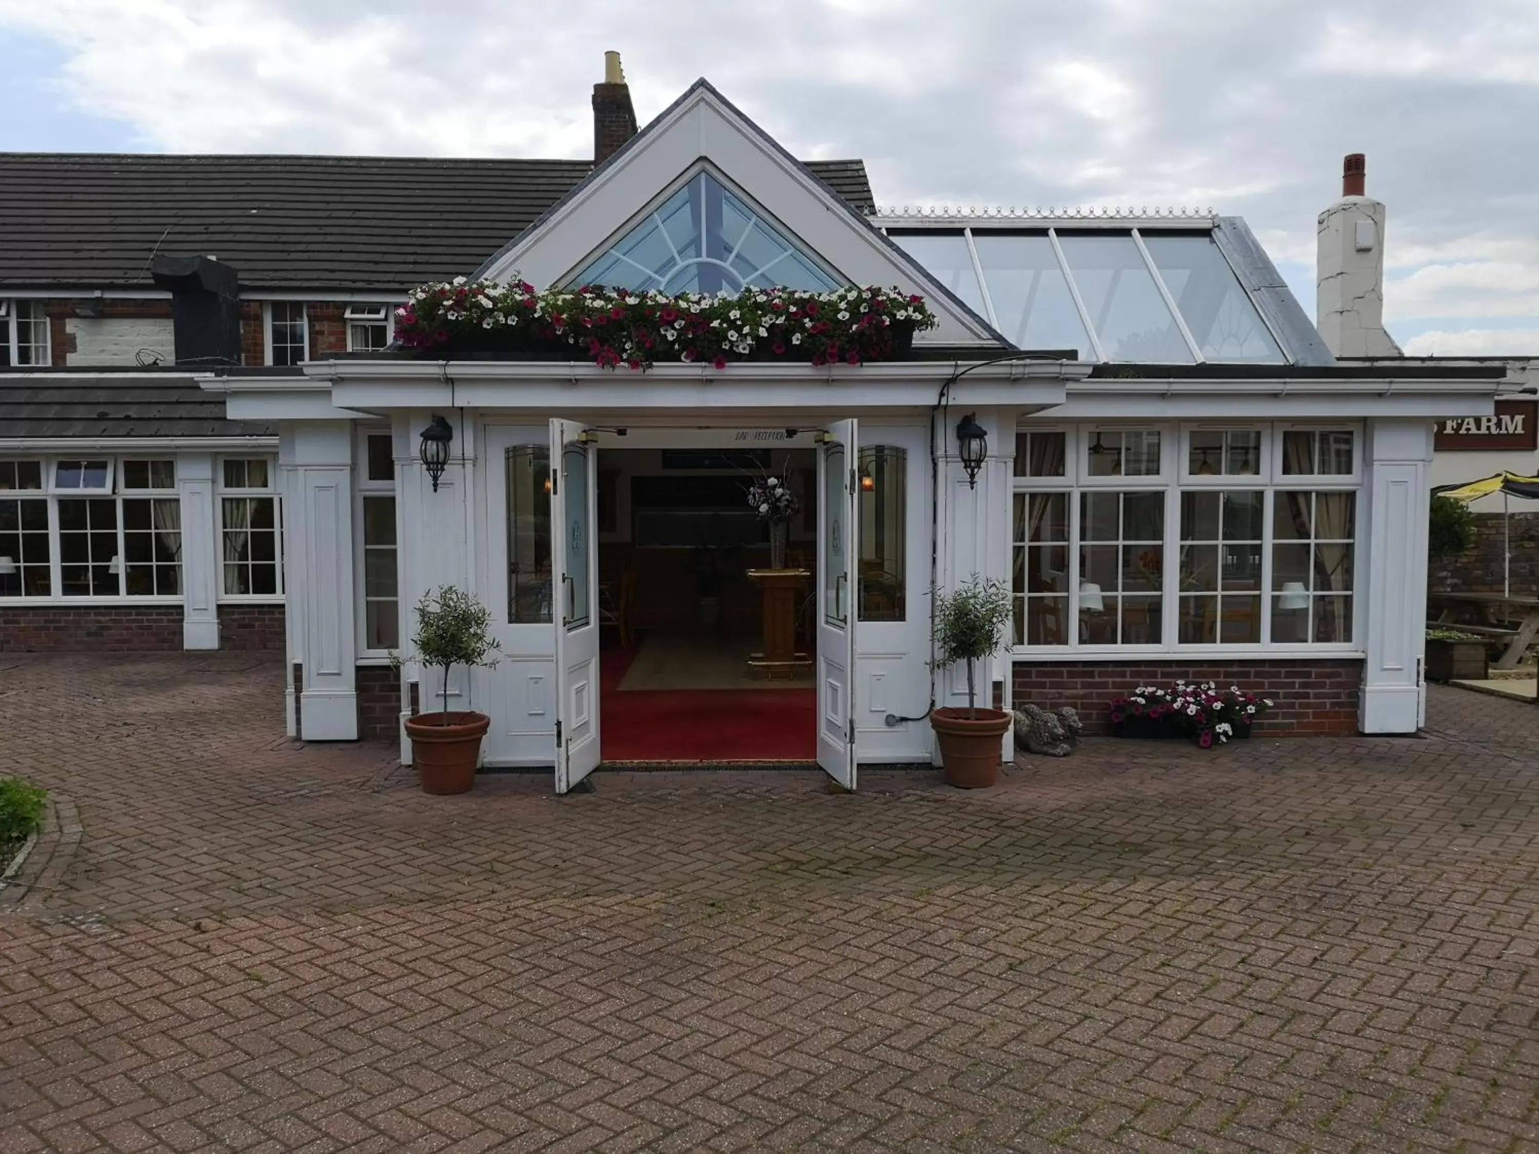
<svg viewBox="0 0 1539 1154">
<path fill-rule="evenodd" d="M 466 669 L 497 665 L 496 659 L 486 657 L 497 649 L 489 626 L 486 606 L 452 585 L 426 592 L 417 602 L 417 635 L 411 639 L 416 652 L 411 660 L 423 669 L 443 671 L 443 709 L 406 719 L 406 735 L 411 737 L 412 762 L 423 792 L 463 794 L 476 783 L 480 739 L 491 719 L 479 712 L 449 711 L 449 669 L 456 665 Z M 402 660 L 400 654 L 391 654 L 397 668 Z"/>
</svg>

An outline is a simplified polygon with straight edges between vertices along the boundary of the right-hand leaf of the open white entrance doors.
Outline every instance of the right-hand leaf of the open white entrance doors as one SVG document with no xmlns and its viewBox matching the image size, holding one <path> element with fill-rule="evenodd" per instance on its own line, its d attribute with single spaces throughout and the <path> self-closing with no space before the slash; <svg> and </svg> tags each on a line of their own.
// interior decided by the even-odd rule
<svg viewBox="0 0 1539 1154">
<path fill-rule="evenodd" d="M 817 763 L 856 788 L 856 422 L 836 420 L 817 451 Z"/>
</svg>

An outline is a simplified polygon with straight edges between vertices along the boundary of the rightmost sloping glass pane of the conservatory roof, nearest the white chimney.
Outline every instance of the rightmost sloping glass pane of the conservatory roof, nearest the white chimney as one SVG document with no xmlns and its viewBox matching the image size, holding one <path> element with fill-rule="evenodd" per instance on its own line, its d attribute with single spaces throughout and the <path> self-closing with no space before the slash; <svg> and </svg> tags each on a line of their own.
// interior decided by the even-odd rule
<svg viewBox="0 0 1539 1154">
<path fill-rule="evenodd" d="M 1210 235 L 1145 232 L 1143 245 L 1202 355 L 1280 365 L 1282 349 Z"/>
</svg>

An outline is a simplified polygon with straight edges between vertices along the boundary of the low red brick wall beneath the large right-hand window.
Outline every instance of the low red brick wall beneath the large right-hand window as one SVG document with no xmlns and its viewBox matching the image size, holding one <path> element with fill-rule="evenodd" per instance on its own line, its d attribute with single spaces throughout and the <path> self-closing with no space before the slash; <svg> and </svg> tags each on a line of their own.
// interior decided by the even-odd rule
<svg viewBox="0 0 1539 1154">
<path fill-rule="evenodd" d="M 1043 709 L 1073 706 L 1087 734 L 1107 729 L 1107 703 L 1139 685 L 1174 680 L 1217 682 L 1259 692 L 1273 700 L 1262 722 L 1264 734 L 1354 734 L 1359 660 L 1242 660 L 1242 662 L 1030 662 L 1014 665 L 1014 703 Z"/>
</svg>

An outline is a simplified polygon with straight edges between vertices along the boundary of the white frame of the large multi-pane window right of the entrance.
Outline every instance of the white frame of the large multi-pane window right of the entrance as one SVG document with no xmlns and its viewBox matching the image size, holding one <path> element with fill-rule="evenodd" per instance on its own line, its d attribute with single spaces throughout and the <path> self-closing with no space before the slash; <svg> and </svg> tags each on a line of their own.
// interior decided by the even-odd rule
<svg viewBox="0 0 1539 1154">
<path fill-rule="evenodd" d="M 1262 463 L 1260 472 L 1250 474 L 1214 474 L 1190 475 L 1188 445 L 1193 429 L 1259 429 L 1262 432 Z M 1159 429 L 1160 432 L 1160 471 L 1159 475 L 1143 477 L 1091 477 L 1088 475 L 1088 452 L 1097 431 L 1139 431 Z M 1353 472 L 1351 474 L 1282 474 L 1282 434 L 1288 431 L 1319 431 L 1319 432 L 1351 432 L 1353 434 Z M 1362 620 L 1362 588 L 1360 580 L 1367 569 L 1362 562 L 1367 546 L 1364 508 L 1364 428 L 1362 422 L 1131 422 L 1131 420 L 1099 420 L 1077 423 L 1043 423 L 1025 422 L 1016 432 L 1063 432 L 1065 434 L 1065 475 L 1063 477 L 1011 477 L 1011 500 L 1008 503 L 1007 531 L 1010 534 L 1011 569 L 1014 569 L 1014 494 L 1019 492 L 1068 492 L 1070 519 L 1070 574 L 1068 574 L 1068 643 L 1067 645 L 1013 645 L 1014 659 L 1033 660 L 1114 660 L 1114 659 L 1162 659 L 1162 660 L 1247 660 L 1267 657 L 1362 657 L 1362 643 L 1367 635 Z M 1105 442 L 1103 442 L 1105 443 Z M 1083 460 L 1082 460 L 1083 459 Z M 1079 585 L 1080 585 L 1080 494 L 1087 491 L 1148 491 L 1162 489 L 1165 492 L 1165 546 L 1162 589 L 1162 640 L 1159 645 L 1080 645 L 1079 643 Z M 1262 629 L 1259 643 L 1213 643 L 1213 645 L 1182 645 L 1180 635 L 1180 494 L 1183 489 L 1260 489 L 1264 497 L 1264 543 L 1262 543 Z M 1271 605 L 1274 591 L 1271 588 L 1274 537 L 1274 502 L 1282 491 L 1350 491 L 1356 494 L 1353 525 L 1353 639 L 1351 642 L 1305 642 L 1280 643 L 1271 642 Z M 1014 637 L 1014 625 L 1011 625 Z"/>
</svg>

